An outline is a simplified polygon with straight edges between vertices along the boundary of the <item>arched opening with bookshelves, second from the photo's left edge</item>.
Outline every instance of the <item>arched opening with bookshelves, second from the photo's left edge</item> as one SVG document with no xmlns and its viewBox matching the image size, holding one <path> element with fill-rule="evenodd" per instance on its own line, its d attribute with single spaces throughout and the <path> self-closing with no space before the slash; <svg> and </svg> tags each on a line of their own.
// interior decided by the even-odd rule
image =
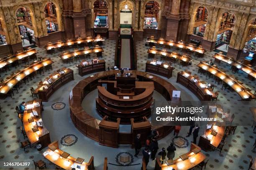
<svg viewBox="0 0 256 170">
<path fill-rule="evenodd" d="M 27 7 L 21 7 L 17 10 L 16 18 L 23 46 L 29 46 L 35 41 L 31 12 Z"/>
</svg>

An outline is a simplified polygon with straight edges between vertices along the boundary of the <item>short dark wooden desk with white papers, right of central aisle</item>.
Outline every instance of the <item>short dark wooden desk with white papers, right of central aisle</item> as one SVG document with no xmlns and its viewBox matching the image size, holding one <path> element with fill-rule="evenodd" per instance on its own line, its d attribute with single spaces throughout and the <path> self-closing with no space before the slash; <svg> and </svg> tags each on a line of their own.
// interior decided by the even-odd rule
<svg viewBox="0 0 256 170">
<path fill-rule="evenodd" d="M 172 77 L 172 70 L 174 69 L 175 68 L 168 63 L 157 62 L 154 60 L 146 62 L 146 72 L 152 72 L 167 78 Z"/>
</svg>

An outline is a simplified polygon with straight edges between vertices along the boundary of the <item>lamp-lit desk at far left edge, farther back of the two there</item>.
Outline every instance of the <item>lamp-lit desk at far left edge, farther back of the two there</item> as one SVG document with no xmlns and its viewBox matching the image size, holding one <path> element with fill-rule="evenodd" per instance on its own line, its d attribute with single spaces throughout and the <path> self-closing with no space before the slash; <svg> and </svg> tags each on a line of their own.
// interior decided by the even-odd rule
<svg viewBox="0 0 256 170">
<path fill-rule="evenodd" d="M 11 55 L 3 60 L 0 60 L 0 68 L 8 66 L 11 63 L 18 62 L 26 57 L 36 56 L 36 49 L 31 48 L 30 50 L 19 52 L 18 54 Z"/>
</svg>

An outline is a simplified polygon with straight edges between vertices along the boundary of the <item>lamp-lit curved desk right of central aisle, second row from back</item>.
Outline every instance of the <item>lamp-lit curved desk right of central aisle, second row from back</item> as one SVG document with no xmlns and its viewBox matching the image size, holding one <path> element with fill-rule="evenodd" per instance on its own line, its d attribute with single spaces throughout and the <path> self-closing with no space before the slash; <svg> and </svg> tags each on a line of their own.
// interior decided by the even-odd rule
<svg viewBox="0 0 256 170">
<path fill-rule="evenodd" d="M 188 64 L 188 62 L 190 60 L 192 60 L 192 58 L 190 56 L 182 55 L 175 51 L 169 52 L 167 50 L 158 50 L 158 49 L 154 49 L 154 48 L 148 48 L 148 54 L 164 55 L 166 57 L 178 59 L 178 60 L 180 60 L 180 62 L 186 63 L 186 65 Z"/>
</svg>

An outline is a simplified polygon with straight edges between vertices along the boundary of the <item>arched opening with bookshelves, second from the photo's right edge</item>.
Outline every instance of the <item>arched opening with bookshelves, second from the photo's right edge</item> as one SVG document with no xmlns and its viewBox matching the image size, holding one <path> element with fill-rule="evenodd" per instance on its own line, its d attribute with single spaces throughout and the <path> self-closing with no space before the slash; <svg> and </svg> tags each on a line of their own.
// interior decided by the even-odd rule
<svg viewBox="0 0 256 170">
<path fill-rule="evenodd" d="M 228 12 L 222 15 L 215 46 L 218 46 L 218 48 L 224 52 L 228 51 L 228 45 L 230 43 L 235 23 L 236 17 L 233 13 Z"/>
</svg>

